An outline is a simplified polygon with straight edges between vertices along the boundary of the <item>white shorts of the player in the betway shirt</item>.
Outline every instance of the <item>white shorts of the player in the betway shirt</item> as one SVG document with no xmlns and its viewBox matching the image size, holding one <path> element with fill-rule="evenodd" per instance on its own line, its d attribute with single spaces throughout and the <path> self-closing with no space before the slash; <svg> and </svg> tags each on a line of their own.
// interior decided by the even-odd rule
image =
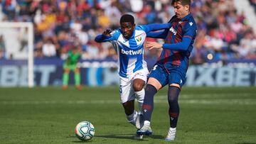
<svg viewBox="0 0 256 144">
<path fill-rule="evenodd" d="M 145 68 L 142 70 L 138 70 L 137 72 L 134 72 L 128 77 L 119 77 L 119 83 L 120 83 L 119 93 L 120 93 L 121 103 L 132 101 L 136 98 L 134 89 L 132 87 L 133 80 L 142 79 L 146 84 L 148 74 L 149 74 L 149 70 Z"/>
</svg>

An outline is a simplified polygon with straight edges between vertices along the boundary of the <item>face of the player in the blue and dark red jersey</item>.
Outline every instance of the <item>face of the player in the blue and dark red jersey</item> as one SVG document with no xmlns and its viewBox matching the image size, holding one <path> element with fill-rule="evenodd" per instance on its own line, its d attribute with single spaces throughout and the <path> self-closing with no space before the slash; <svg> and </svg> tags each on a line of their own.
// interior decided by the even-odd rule
<svg viewBox="0 0 256 144">
<path fill-rule="evenodd" d="M 183 18 L 189 13 L 189 6 L 188 5 L 181 5 L 181 2 L 175 2 L 174 3 L 174 12 L 178 18 Z"/>
</svg>

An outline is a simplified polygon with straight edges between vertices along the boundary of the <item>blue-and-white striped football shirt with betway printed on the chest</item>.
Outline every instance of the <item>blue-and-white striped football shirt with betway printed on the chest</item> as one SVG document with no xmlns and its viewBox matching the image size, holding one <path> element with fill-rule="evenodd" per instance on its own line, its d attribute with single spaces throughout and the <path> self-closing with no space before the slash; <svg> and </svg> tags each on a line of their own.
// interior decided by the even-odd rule
<svg viewBox="0 0 256 144">
<path fill-rule="evenodd" d="M 127 40 L 122 35 L 121 29 L 111 33 L 110 41 L 117 51 L 118 69 L 121 77 L 127 77 L 138 70 L 147 69 L 144 60 L 144 41 L 146 39 L 147 26 L 135 26 L 134 33 Z"/>
</svg>

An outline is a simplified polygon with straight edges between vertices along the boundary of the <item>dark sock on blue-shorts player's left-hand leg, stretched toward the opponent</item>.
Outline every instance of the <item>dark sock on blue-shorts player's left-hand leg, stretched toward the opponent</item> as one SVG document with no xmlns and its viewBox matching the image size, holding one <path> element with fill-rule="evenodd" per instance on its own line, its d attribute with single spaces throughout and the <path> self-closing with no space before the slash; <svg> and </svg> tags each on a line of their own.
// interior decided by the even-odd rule
<svg viewBox="0 0 256 144">
<path fill-rule="evenodd" d="M 144 121 L 150 121 L 151 119 L 151 114 L 154 109 L 154 95 L 156 92 L 157 90 L 154 86 L 146 84 L 144 104 L 142 106 Z"/>
</svg>

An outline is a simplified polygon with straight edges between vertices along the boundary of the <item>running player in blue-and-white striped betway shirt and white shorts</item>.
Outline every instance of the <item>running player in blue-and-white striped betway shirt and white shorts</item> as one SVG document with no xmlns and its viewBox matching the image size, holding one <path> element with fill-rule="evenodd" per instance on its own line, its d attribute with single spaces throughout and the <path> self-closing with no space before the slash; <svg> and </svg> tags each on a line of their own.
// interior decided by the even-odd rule
<svg viewBox="0 0 256 144">
<path fill-rule="evenodd" d="M 128 122 L 139 129 L 141 128 L 139 118 L 142 114 L 145 94 L 144 85 L 149 73 L 143 57 L 146 33 L 169 28 L 170 25 L 164 23 L 136 26 L 134 17 L 124 14 L 120 18 L 120 26 L 121 28 L 114 31 L 107 29 L 97 35 L 95 41 L 97 43 L 110 42 L 117 51 L 121 103 Z M 134 110 L 134 99 L 138 101 L 139 112 Z"/>
</svg>

